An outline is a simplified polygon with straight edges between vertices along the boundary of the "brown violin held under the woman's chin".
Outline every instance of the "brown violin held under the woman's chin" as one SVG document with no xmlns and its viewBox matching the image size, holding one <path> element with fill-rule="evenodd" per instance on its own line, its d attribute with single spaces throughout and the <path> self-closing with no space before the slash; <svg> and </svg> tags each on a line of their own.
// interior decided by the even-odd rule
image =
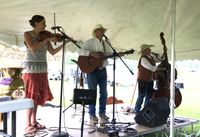
<svg viewBox="0 0 200 137">
<path fill-rule="evenodd" d="M 50 37 L 56 37 L 57 42 L 62 42 L 62 35 L 60 33 L 51 33 L 50 31 L 44 30 L 40 32 L 40 38 L 45 40 Z"/>
</svg>

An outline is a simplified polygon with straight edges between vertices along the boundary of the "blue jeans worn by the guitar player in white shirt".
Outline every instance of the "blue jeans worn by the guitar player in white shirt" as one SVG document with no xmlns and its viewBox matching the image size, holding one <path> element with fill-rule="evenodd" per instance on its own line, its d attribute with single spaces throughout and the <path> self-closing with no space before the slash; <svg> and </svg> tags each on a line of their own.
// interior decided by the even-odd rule
<svg viewBox="0 0 200 137">
<path fill-rule="evenodd" d="M 96 69 L 95 71 L 87 74 L 87 84 L 89 89 L 95 89 L 99 85 L 99 114 L 105 114 L 107 102 L 107 71 L 106 68 Z M 96 115 L 96 104 L 89 105 L 89 115 Z"/>
</svg>

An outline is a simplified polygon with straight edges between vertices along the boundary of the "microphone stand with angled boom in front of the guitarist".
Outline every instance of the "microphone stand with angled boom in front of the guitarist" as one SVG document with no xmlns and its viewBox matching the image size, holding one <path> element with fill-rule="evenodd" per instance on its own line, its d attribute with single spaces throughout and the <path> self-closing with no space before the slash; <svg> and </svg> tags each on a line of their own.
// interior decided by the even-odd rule
<svg viewBox="0 0 200 137">
<path fill-rule="evenodd" d="M 105 41 L 108 43 L 108 45 L 112 48 L 112 50 L 113 50 L 113 83 L 112 83 L 112 85 L 113 85 L 113 118 L 112 118 L 112 120 L 111 120 L 111 124 L 113 124 L 114 125 L 114 127 L 113 127 L 113 130 L 115 130 L 116 131 L 116 128 L 115 128 L 115 124 L 116 124 L 116 119 L 115 119 L 115 69 L 116 69 L 116 56 L 118 56 L 120 59 L 121 59 L 121 61 L 124 63 L 124 65 L 127 67 L 127 69 L 130 71 L 130 73 L 133 75 L 134 73 L 129 69 L 129 67 L 126 65 L 126 63 L 122 60 L 122 58 L 119 56 L 119 54 L 116 52 L 116 50 L 112 47 L 112 45 L 111 45 L 111 43 L 110 43 L 110 41 L 109 41 L 109 39 L 104 35 L 104 37 L 105 37 Z M 106 122 L 106 123 L 108 123 L 108 122 Z M 105 124 L 106 124 L 105 123 Z M 119 124 L 123 124 L 122 122 L 120 122 Z M 124 124 L 130 124 L 130 123 L 124 123 Z M 118 132 L 116 131 L 116 133 L 118 134 Z"/>
</svg>

